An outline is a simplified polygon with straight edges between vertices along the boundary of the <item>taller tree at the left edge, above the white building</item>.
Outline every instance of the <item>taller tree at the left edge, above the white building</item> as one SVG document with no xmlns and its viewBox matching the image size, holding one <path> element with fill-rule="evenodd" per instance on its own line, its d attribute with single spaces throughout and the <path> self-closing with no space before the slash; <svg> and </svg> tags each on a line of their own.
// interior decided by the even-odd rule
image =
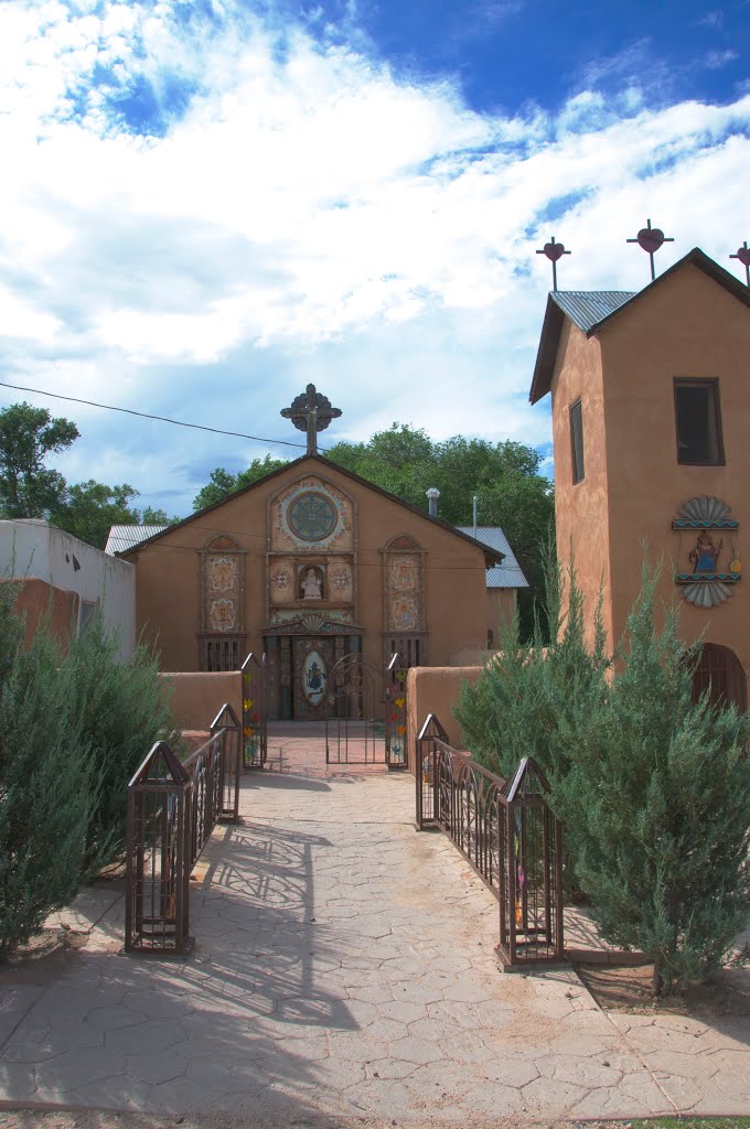
<svg viewBox="0 0 750 1129">
<path fill-rule="evenodd" d="M 66 493 L 66 480 L 44 465 L 46 455 L 78 438 L 70 420 L 26 402 L 0 410 L 0 517 L 47 517 Z"/>
</svg>

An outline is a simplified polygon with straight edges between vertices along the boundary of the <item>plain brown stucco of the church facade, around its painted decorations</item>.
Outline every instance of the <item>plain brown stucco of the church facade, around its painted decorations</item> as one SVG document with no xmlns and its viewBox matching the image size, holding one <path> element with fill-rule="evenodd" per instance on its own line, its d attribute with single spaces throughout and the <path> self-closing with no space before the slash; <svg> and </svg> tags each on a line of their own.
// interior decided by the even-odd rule
<svg viewBox="0 0 750 1129">
<path fill-rule="evenodd" d="M 380 669 L 383 658 L 383 557 L 381 550 L 407 534 L 426 550 L 428 662 L 447 663 L 462 647 L 487 641 L 483 552 L 419 514 L 352 482 L 331 464 L 305 461 L 270 481 L 226 501 L 152 545 L 128 557 L 137 563 L 139 628 L 160 650 L 166 671 L 199 666 L 197 631 L 200 605 L 200 555 L 208 541 L 229 534 L 245 551 L 246 651 L 262 653 L 265 625 L 267 507 L 285 485 L 300 478 L 322 478 L 357 504 L 356 622 L 365 629 L 365 658 Z M 309 554 L 314 554 L 314 546 Z M 324 610 L 321 609 L 324 613 Z"/>
</svg>

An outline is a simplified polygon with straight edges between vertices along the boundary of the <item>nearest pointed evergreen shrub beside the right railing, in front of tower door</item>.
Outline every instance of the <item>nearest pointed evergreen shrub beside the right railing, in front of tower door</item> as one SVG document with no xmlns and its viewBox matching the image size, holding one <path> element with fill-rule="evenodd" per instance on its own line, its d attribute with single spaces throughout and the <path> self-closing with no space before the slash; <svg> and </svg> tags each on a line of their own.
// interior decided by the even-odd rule
<svg viewBox="0 0 750 1129">
<path fill-rule="evenodd" d="M 648 953 L 655 987 L 704 980 L 750 918 L 750 715 L 694 703 L 674 606 L 644 567 L 622 668 L 579 726 L 567 795 L 582 886 L 605 939 Z"/>
</svg>

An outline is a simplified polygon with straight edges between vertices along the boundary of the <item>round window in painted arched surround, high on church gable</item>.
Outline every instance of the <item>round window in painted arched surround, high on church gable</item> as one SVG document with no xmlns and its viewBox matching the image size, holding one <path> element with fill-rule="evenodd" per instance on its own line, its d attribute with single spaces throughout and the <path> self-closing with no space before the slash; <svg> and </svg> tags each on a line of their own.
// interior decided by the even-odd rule
<svg viewBox="0 0 750 1129">
<path fill-rule="evenodd" d="M 309 552 L 311 545 L 354 549 L 354 504 L 319 478 L 285 487 L 271 500 L 269 525 L 272 551 Z"/>
</svg>

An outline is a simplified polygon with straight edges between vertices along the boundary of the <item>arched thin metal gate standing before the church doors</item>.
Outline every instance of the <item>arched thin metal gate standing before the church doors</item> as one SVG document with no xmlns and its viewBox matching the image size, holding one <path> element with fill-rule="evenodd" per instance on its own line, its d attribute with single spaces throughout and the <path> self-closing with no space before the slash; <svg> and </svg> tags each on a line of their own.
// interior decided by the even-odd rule
<svg viewBox="0 0 750 1129">
<path fill-rule="evenodd" d="M 326 764 L 385 764 L 381 672 L 361 655 L 345 655 L 329 675 Z"/>
</svg>

